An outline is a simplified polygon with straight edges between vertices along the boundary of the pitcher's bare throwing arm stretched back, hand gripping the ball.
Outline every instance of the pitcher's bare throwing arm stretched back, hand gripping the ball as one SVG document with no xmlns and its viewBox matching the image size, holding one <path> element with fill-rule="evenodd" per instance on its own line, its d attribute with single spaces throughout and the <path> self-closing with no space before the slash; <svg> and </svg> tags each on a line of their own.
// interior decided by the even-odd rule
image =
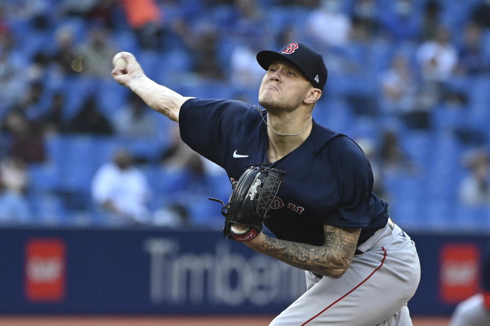
<svg viewBox="0 0 490 326">
<path fill-rule="evenodd" d="M 123 53 L 122 58 L 126 60 L 127 66 L 117 66 L 112 70 L 111 74 L 114 80 L 135 92 L 153 110 L 178 122 L 180 107 L 192 97 L 182 96 L 146 77 L 132 54 Z"/>
</svg>

